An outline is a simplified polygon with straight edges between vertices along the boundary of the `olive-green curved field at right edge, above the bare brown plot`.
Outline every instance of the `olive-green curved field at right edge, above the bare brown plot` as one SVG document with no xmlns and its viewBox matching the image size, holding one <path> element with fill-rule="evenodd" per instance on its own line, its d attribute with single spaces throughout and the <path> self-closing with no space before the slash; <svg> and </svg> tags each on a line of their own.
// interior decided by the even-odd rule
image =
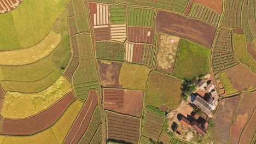
<svg viewBox="0 0 256 144">
<path fill-rule="evenodd" d="M 234 52 L 237 59 L 256 74 L 256 62 L 246 51 L 246 40 L 243 34 L 233 34 Z"/>
</svg>

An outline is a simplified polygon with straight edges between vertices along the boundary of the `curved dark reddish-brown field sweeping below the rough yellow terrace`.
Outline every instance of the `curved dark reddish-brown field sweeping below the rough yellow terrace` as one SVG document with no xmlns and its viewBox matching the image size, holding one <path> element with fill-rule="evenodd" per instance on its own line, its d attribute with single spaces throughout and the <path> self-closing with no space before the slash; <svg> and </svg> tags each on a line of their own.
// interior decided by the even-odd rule
<svg viewBox="0 0 256 144">
<path fill-rule="evenodd" d="M 4 135 L 30 135 L 42 131 L 53 125 L 67 107 L 75 100 L 73 93 L 69 93 L 49 109 L 35 116 L 25 119 L 3 119 L 1 134 Z"/>
</svg>

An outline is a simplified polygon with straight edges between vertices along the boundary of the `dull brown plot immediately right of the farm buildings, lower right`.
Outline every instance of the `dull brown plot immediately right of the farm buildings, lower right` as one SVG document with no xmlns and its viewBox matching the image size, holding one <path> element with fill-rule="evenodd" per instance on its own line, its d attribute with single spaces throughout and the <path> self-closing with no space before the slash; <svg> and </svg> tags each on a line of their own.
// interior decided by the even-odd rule
<svg viewBox="0 0 256 144">
<path fill-rule="evenodd" d="M 213 122 L 216 123 L 210 132 L 210 138 L 222 143 L 228 143 L 229 130 L 232 119 L 234 117 L 236 106 L 240 97 L 224 99 L 218 106 L 217 112 L 213 117 Z M 225 113 L 225 115 L 223 115 Z"/>
</svg>

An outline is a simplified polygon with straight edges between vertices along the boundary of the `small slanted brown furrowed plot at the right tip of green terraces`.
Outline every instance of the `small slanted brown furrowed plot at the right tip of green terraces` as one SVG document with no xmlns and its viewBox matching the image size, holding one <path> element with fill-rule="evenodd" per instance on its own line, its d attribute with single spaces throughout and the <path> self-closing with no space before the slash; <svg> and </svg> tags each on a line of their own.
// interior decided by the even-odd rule
<svg viewBox="0 0 256 144">
<path fill-rule="evenodd" d="M 64 75 L 67 76 L 69 80 L 72 80 L 72 76 L 75 72 L 75 69 L 77 69 L 78 64 L 79 64 L 79 57 L 72 57 L 64 73 Z"/>
</svg>

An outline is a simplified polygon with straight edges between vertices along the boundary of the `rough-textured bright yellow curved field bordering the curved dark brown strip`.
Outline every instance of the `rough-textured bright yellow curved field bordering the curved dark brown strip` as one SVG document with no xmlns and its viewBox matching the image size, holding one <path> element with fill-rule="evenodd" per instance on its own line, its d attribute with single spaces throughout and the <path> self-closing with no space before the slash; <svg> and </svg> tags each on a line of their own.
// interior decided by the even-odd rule
<svg viewBox="0 0 256 144">
<path fill-rule="evenodd" d="M 1 115 L 6 118 L 25 118 L 32 116 L 72 91 L 71 83 L 61 76 L 53 85 L 39 93 L 7 92 Z"/>
</svg>

